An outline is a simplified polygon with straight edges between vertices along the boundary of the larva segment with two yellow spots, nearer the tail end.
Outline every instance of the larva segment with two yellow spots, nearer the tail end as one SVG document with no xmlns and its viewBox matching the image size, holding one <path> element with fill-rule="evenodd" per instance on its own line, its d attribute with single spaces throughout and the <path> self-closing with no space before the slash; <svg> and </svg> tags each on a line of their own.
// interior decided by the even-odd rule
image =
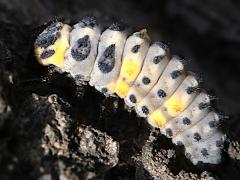
<svg viewBox="0 0 240 180">
<path fill-rule="evenodd" d="M 173 95 L 148 116 L 148 122 L 159 128 L 163 128 L 167 121 L 178 116 L 196 97 L 198 81 L 195 76 L 188 75 Z"/>
</svg>

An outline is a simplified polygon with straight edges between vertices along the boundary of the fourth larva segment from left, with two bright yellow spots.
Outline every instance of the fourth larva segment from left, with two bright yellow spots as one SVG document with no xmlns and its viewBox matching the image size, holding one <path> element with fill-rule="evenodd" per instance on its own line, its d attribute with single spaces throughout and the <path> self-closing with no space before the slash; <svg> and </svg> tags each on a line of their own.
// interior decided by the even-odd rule
<svg viewBox="0 0 240 180">
<path fill-rule="evenodd" d="M 145 29 L 134 33 L 127 39 L 120 75 L 114 86 L 115 92 L 119 97 L 126 97 L 130 87 L 140 73 L 149 48 L 149 41 Z M 136 98 L 135 96 L 131 96 L 131 99 L 134 102 Z"/>
</svg>

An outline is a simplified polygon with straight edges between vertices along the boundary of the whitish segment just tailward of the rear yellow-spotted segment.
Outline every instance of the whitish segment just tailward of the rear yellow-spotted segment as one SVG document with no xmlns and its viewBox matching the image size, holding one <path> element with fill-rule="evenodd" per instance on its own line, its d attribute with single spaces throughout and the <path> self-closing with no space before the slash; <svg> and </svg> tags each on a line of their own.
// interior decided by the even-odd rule
<svg viewBox="0 0 240 180">
<path fill-rule="evenodd" d="M 187 109 L 166 123 L 161 129 L 161 133 L 170 138 L 191 128 L 208 114 L 209 104 L 209 96 L 205 93 L 200 93 Z"/>
</svg>

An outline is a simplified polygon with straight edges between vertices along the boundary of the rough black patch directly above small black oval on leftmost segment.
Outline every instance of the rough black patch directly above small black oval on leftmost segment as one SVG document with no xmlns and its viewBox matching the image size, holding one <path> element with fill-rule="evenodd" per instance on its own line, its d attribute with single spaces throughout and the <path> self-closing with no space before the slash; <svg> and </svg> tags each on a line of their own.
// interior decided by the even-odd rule
<svg viewBox="0 0 240 180">
<path fill-rule="evenodd" d="M 35 46 L 41 48 L 47 48 L 50 45 L 53 45 L 56 40 L 60 37 L 60 33 L 43 33 L 39 35 L 35 41 Z"/>
</svg>

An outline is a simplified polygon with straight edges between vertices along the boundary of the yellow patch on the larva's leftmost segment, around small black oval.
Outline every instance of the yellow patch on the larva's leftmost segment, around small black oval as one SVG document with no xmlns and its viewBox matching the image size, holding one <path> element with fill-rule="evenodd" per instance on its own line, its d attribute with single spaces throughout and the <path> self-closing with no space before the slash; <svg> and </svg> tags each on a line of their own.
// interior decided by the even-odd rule
<svg viewBox="0 0 240 180">
<path fill-rule="evenodd" d="M 51 48 L 50 48 L 51 47 Z M 64 66 L 64 55 L 65 51 L 69 48 L 68 39 L 63 37 L 58 39 L 54 45 L 50 46 L 49 49 L 53 49 L 55 51 L 54 55 L 49 58 L 41 59 L 41 54 L 43 52 L 43 48 L 37 47 L 35 49 L 35 54 L 40 64 L 49 65 L 53 64 L 59 68 L 63 68 Z"/>
</svg>

